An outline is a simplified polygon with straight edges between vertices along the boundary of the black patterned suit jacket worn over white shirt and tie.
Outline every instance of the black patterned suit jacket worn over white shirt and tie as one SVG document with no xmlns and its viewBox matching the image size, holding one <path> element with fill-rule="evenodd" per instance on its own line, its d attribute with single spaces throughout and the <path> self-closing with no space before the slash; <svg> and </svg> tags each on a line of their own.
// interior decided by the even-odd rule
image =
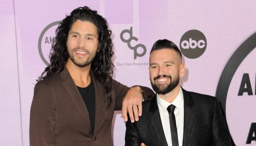
<svg viewBox="0 0 256 146">
<path fill-rule="evenodd" d="M 182 146 L 231 146 L 231 136 L 218 98 L 189 92 L 184 97 Z M 129 116 L 128 116 L 129 117 Z M 126 122 L 125 146 L 167 146 L 156 95 L 142 103 L 142 116 Z"/>
</svg>

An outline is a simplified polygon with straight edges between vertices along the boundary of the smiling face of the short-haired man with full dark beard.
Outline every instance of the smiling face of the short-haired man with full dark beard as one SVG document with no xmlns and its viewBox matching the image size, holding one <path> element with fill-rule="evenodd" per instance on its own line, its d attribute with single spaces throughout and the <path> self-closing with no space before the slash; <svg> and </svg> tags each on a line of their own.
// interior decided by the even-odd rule
<svg viewBox="0 0 256 146">
<path fill-rule="evenodd" d="M 185 65 L 173 49 L 155 50 L 150 54 L 150 82 L 157 94 L 167 94 L 179 85 Z"/>
</svg>

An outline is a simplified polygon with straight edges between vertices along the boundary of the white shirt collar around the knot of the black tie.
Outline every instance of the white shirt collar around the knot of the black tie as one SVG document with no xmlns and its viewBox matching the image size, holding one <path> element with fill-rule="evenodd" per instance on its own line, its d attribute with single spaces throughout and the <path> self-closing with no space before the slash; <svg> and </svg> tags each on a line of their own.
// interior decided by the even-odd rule
<svg viewBox="0 0 256 146">
<path fill-rule="evenodd" d="M 158 94 L 157 94 L 157 103 L 158 103 L 158 108 L 161 109 L 162 111 L 165 111 L 167 107 L 170 106 L 171 104 L 176 106 L 178 109 L 182 109 L 184 106 L 182 88 L 180 87 L 179 94 L 172 103 L 166 102 L 165 100 L 160 98 Z"/>
</svg>

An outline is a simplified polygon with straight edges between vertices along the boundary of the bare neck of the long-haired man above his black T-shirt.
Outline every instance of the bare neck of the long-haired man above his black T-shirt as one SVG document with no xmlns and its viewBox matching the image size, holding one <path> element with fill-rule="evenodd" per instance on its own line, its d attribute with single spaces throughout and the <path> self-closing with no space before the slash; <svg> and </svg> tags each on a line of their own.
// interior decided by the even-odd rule
<svg viewBox="0 0 256 146">
<path fill-rule="evenodd" d="M 66 63 L 67 70 L 70 76 L 74 80 L 75 84 L 79 87 L 86 87 L 91 82 L 90 67 L 91 64 L 86 67 L 78 67 L 70 59 Z"/>
</svg>

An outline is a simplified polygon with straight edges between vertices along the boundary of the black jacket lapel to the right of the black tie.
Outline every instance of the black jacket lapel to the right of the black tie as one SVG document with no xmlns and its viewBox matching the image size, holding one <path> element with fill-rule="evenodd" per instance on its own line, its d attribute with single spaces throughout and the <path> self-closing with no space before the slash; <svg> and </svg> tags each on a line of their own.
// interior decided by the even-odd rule
<svg viewBox="0 0 256 146">
<path fill-rule="evenodd" d="M 183 146 L 187 146 L 190 131 L 194 121 L 194 110 L 193 110 L 193 100 L 188 91 L 182 88 L 183 98 L 184 98 L 184 129 L 183 129 Z"/>
</svg>

